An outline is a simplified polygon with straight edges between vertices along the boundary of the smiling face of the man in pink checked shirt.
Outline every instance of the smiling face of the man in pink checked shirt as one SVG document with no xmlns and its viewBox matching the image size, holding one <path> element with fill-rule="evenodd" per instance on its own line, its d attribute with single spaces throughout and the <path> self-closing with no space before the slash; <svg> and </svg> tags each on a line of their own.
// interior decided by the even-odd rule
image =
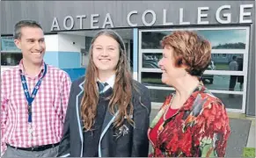
<svg viewBox="0 0 256 158">
<path fill-rule="evenodd" d="M 41 64 L 46 44 L 43 31 L 38 27 L 22 27 L 20 39 L 15 39 L 16 46 L 21 49 L 23 59 L 33 64 Z"/>
</svg>

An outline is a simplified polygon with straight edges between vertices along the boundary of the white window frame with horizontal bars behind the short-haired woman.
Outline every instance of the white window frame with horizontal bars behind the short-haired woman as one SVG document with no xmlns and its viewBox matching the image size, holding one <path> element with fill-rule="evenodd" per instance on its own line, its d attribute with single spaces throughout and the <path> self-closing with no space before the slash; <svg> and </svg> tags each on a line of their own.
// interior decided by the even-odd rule
<svg viewBox="0 0 256 158">
<path fill-rule="evenodd" d="M 213 93 L 221 94 L 239 94 L 243 95 L 242 109 L 228 109 L 231 112 L 242 112 L 245 113 L 245 102 L 246 102 L 246 91 L 247 91 L 247 71 L 248 71 L 248 57 L 249 57 L 249 47 L 250 47 L 250 26 L 217 26 L 217 27 L 189 27 L 189 28 L 170 28 L 170 29 L 140 29 L 139 30 L 139 43 L 138 43 L 138 82 L 142 83 L 142 73 L 143 72 L 162 72 L 160 68 L 143 68 L 143 54 L 162 54 L 163 49 L 143 49 L 142 48 L 142 33 L 143 32 L 163 32 L 163 31 L 198 31 L 198 30 L 245 30 L 245 49 L 212 49 L 212 54 L 243 54 L 244 55 L 244 69 L 243 71 L 227 71 L 227 70 L 206 70 L 204 74 L 207 75 L 243 75 L 244 76 L 244 88 L 243 91 L 231 91 L 231 90 L 210 90 Z M 223 55 L 222 55 L 223 56 Z M 146 86 L 150 90 L 174 90 L 171 87 L 161 87 L 161 86 Z M 152 102 L 152 105 L 161 105 L 163 103 Z"/>
</svg>

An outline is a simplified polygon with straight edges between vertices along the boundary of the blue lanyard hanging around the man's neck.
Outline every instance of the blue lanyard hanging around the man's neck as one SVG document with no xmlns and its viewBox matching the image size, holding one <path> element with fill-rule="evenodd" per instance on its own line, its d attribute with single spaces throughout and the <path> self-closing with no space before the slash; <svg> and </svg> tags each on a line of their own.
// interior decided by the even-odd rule
<svg viewBox="0 0 256 158">
<path fill-rule="evenodd" d="M 20 74 L 21 83 L 22 83 L 23 90 L 24 90 L 24 93 L 25 93 L 25 96 L 26 96 L 26 101 L 27 101 L 28 122 L 29 123 L 32 123 L 32 103 L 33 103 L 33 99 L 36 96 L 37 91 L 40 88 L 40 83 L 41 83 L 43 77 L 47 74 L 47 64 L 46 63 L 44 63 L 44 68 L 45 68 L 44 73 L 40 77 L 40 80 L 36 83 L 35 87 L 33 88 L 33 92 L 31 94 L 31 96 L 30 96 L 29 90 L 27 88 L 26 76 Z"/>
</svg>

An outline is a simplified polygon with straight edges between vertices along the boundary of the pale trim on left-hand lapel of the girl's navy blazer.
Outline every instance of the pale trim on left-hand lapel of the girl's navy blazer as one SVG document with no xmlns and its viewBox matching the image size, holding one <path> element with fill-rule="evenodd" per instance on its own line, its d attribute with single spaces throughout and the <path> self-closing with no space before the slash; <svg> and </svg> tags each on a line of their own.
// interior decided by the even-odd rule
<svg viewBox="0 0 256 158">
<path fill-rule="evenodd" d="M 76 108 L 77 108 L 77 123 L 78 123 L 78 131 L 81 140 L 81 154 L 80 157 L 83 157 L 83 149 L 84 149 L 84 136 L 83 136 L 83 121 L 81 117 L 81 100 L 84 93 L 84 82 L 79 84 L 79 88 L 81 89 L 77 95 L 76 100 Z"/>
</svg>

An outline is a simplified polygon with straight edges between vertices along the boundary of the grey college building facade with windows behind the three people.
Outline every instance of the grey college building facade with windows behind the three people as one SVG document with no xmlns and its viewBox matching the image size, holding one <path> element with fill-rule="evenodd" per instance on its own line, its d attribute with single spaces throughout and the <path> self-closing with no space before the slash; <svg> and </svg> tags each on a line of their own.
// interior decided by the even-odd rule
<svg viewBox="0 0 256 158">
<path fill-rule="evenodd" d="M 4 1 L 1 2 L 1 69 L 22 54 L 13 26 L 33 19 L 46 34 L 45 61 L 58 68 L 86 68 L 93 35 L 112 28 L 125 40 L 135 80 L 160 105 L 174 89 L 161 83 L 159 41 L 175 30 L 198 32 L 211 42 L 212 61 L 203 82 L 228 111 L 255 116 L 255 1 Z M 3 23 L 4 22 L 4 23 Z M 230 70 L 233 56 L 243 68 Z M 230 90 L 230 75 L 238 82 Z M 243 81 L 243 82 L 241 82 Z"/>
</svg>

